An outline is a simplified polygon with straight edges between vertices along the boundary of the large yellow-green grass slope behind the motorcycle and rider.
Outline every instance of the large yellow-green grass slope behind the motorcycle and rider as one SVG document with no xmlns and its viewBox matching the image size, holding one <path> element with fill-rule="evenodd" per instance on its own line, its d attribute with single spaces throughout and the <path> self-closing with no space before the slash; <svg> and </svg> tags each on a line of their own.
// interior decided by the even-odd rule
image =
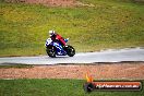
<svg viewBox="0 0 144 96">
<path fill-rule="evenodd" d="M 144 5 L 130 0 L 80 0 L 95 7 L 50 8 L 0 2 L 0 57 L 45 55 L 48 31 L 76 51 L 144 46 Z"/>
</svg>

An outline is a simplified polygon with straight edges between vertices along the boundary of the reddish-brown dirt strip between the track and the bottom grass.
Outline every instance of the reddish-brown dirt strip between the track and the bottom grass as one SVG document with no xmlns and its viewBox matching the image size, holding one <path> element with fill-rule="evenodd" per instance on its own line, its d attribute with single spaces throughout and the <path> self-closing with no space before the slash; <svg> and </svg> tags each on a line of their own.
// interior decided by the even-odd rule
<svg viewBox="0 0 144 96">
<path fill-rule="evenodd" d="M 144 80 L 144 62 L 96 63 L 95 65 L 36 65 L 28 69 L 0 69 L 0 79 L 85 79 Z"/>
</svg>

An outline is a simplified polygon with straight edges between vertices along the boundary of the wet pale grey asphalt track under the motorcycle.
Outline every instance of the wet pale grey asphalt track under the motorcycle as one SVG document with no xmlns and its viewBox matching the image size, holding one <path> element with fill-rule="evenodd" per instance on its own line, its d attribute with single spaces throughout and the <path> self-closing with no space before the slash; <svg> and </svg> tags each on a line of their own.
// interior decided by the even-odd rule
<svg viewBox="0 0 144 96">
<path fill-rule="evenodd" d="M 95 62 L 122 62 L 122 61 L 144 61 L 144 48 L 124 48 L 109 49 L 98 52 L 80 52 L 74 57 L 57 57 L 48 56 L 38 57 L 7 57 L 0 58 L 0 64 L 58 64 L 58 63 L 95 63 Z"/>
</svg>

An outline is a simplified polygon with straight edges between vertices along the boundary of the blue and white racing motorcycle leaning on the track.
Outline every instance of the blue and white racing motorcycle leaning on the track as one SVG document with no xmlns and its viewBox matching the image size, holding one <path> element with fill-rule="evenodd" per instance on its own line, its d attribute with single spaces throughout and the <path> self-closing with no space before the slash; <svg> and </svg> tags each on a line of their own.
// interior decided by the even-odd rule
<svg viewBox="0 0 144 96">
<path fill-rule="evenodd" d="M 68 43 L 69 38 L 64 39 L 64 41 Z M 52 41 L 51 38 L 48 38 L 46 40 L 45 46 L 47 55 L 51 58 L 56 58 L 56 56 L 73 57 L 75 55 L 75 49 L 72 46 L 67 45 L 62 47 L 59 41 Z"/>
</svg>

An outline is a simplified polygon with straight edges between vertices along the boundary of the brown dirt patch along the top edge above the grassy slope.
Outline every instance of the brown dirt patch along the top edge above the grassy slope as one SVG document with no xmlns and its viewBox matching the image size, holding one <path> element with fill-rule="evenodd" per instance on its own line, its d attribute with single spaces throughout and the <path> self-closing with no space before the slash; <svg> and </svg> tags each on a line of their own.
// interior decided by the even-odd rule
<svg viewBox="0 0 144 96">
<path fill-rule="evenodd" d="M 11 3 L 43 4 L 45 7 L 95 7 L 92 3 L 83 3 L 77 0 L 4 0 Z"/>
</svg>

